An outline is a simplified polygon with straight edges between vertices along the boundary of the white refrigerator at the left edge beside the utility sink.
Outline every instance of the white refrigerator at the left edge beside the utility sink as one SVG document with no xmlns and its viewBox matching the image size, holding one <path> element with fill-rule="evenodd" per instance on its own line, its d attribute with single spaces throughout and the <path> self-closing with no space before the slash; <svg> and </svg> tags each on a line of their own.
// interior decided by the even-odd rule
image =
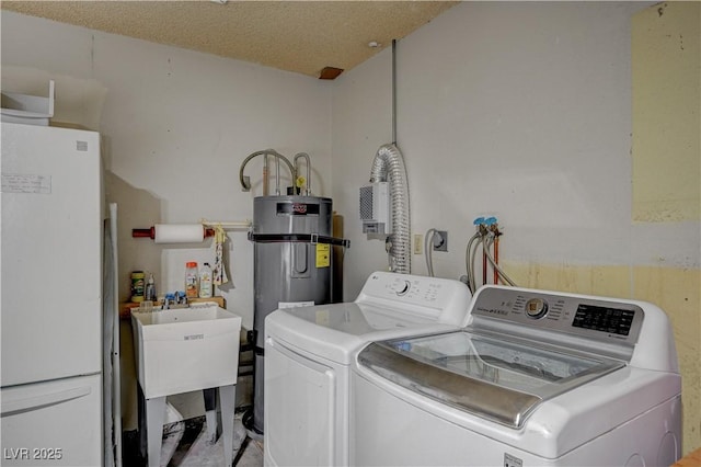
<svg viewBox="0 0 701 467">
<path fill-rule="evenodd" d="M 100 466 L 100 135 L 1 126 L 0 465 Z"/>
</svg>

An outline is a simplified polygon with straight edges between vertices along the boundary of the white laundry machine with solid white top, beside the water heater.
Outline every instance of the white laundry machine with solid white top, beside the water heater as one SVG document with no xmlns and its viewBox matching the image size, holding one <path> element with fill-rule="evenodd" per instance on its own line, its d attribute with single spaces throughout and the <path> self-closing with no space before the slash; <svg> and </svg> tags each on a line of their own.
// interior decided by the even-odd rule
<svg viewBox="0 0 701 467">
<path fill-rule="evenodd" d="M 460 329 L 458 282 L 376 272 L 354 303 L 276 310 L 265 321 L 264 462 L 349 465 L 350 365 L 368 342 Z"/>
</svg>

